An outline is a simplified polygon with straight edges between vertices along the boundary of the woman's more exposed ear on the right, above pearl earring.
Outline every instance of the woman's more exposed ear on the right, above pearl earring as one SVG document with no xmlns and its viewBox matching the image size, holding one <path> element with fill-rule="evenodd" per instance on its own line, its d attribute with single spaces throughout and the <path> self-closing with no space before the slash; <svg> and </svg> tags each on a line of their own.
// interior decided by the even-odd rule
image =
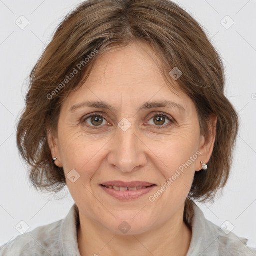
<svg viewBox="0 0 256 256">
<path fill-rule="evenodd" d="M 209 136 L 206 139 L 203 135 L 201 135 L 199 146 L 199 151 L 201 152 L 201 154 L 196 160 L 195 171 L 199 171 L 202 169 L 201 161 L 207 164 L 208 161 L 210 160 L 216 138 L 217 116 L 212 115 L 207 124 L 209 129 Z"/>
</svg>

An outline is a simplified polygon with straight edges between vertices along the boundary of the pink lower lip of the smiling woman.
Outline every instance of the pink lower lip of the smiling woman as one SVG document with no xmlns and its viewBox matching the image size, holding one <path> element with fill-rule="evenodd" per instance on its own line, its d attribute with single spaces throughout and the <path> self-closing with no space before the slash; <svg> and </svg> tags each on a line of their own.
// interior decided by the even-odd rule
<svg viewBox="0 0 256 256">
<path fill-rule="evenodd" d="M 148 186 L 147 188 L 141 188 L 137 190 L 115 190 L 113 188 L 107 188 L 105 186 L 100 185 L 101 188 L 108 193 L 109 195 L 115 197 L 119 200 L 132 200 L 137 199 L 140 196 L 147 194 L 149 191 L 151 191 L 156 185 Z"/>
</svg>

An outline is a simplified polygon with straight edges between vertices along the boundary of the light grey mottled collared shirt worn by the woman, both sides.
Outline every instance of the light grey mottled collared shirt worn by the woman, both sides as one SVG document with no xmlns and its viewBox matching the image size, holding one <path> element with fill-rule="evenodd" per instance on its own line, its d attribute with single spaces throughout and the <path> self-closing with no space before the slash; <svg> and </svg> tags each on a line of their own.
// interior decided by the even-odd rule
<svg viewBox="0 0 256 256">
<path fill-rule="evenodd" d="M 246 245 L 248 239 L 238 237 L 233 232 L 226 234 L 207 220 L 195 203 L 193 210 L 192 239 L 187 256 L 256 256 L 256 248 Z M 0 256 L 80 256 L 78 220 L 78 208 L 74 204 L 64 219 L 39 226 L 1 246 Z"/>
</svg>

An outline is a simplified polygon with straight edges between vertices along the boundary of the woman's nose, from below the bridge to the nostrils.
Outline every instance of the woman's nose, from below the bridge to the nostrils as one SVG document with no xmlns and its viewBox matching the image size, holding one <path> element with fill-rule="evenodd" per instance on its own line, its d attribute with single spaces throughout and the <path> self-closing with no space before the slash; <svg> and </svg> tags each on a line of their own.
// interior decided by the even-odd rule
<svg viewBox="0 0 256 256">
<path fill-rule="evenodd" d="M 134 172 L 147 162 L 147 147 L 136 132 L 135 124 L 131 124 L 126 131 L 117 126 L 110 147 L 108 164 L 122 172 Z"/>
</svg>

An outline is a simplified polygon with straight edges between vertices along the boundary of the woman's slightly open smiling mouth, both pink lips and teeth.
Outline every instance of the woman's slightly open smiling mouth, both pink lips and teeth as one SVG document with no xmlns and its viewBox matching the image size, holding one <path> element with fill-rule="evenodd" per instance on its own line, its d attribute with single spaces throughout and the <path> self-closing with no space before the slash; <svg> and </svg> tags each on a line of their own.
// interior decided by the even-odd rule
<svg viewBox="0 0 256 256">
<path fill-rule="evenodd" d="M 110 196 L 118 200 L 132 200 L 141 197 L 151 191 L 156 184 L 149 182 L 122 182 L 109 181 L 100 184 L 100 187 Z"/>
</svg>

